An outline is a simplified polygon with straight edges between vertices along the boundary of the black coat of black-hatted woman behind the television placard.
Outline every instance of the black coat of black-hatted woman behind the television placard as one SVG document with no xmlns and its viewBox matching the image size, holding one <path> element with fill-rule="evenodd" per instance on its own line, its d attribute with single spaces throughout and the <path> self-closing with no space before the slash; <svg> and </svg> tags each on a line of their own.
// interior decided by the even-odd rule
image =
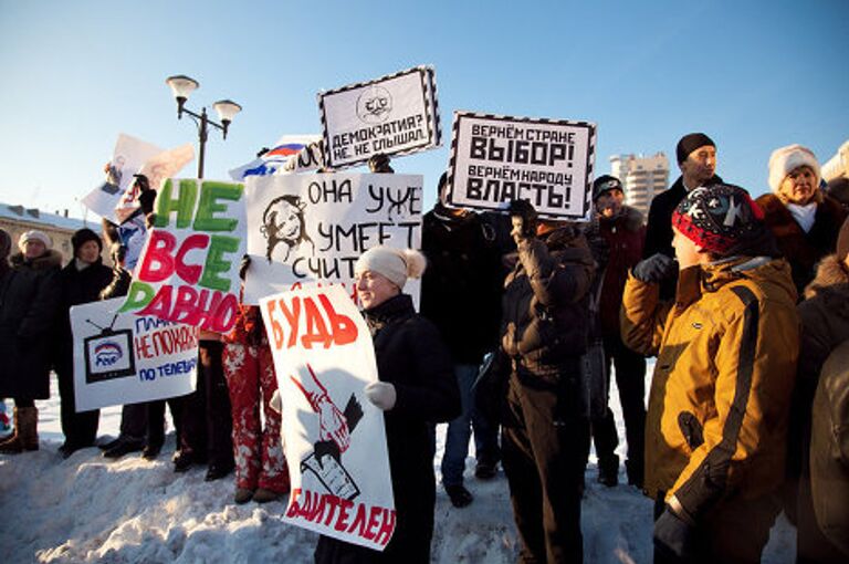
<svg viewBox="0 0 849 564">
<path fill-rule="evenodd" d="M 55 366 L 57 372 L 73 374 L 73 335 L 71 332 L 71 307 L 101 299 L 101 290 L 112 281 L 112 269 L 101 259 L 90 267 L 77 270 L 75 260 L 59 273 L 60 300 L 56 316 L 57 342 Z"/>
</svg>

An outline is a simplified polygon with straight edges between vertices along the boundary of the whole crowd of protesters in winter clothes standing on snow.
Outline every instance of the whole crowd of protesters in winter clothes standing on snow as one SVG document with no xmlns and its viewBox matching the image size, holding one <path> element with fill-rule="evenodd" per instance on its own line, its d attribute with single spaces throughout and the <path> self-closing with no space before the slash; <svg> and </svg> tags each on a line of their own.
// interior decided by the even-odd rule
<svg viewBox="0 0 849 564">
<path fill-rule="evenodd" d="M 397 528 L 382 553 L 322 536 L 316 562 L 429 562 L 440 422 L 455 508 L 474 501 L 463 484 L 473 436 L 474 477 L 493 479 L 499 464 L 506 476 L 520 561 L 583 562 L 590 443 L 597 480 L 618 485 L 611 367 L 627 480 L 654 501 L 654 562 L 759 562 L 782 511 L 798 531 L 797 562 L 849 560 L 849 201 L 799 145 L 773 153 L 772 194 L 757 199 L 717 176 L 717 158 L 705 134 L 682 137 L 681 176 L 648 221 L 608 175 L 593 184 L 589 222 L 539 217 L 526 200 L 506 215 L 453 209 L 443 175 L 421 251 L 360 255 L 379 379 L 364 394 L 385 415 Z M 392 173 L 385 157 L 369 165 Z M 0 397 L 14 400 L 0 452 L 39 448 L 34 400 L 48 397 L 51 368 L 61 452 L 96 442 L 97 411 L 74 406 L 69 309 L 126 292 L 125 249 L 109 226 L 103 239 L 77 231 L 61 268 L 43 232 L 21 236 L 10 255 L 0 230 Z M 403 288 L 420 276 L 417 313 Z M 229 335 L 201 335 L 199 356 L 196 391 L 168 400 L 175 471 L 234 470 L 235 503 L 280 499 L 290 484 L 259 310 L 242 306 Z M 155 459 L 164 415 L 165 401 L 124 406 L 103 456 Z"/>
</svg>

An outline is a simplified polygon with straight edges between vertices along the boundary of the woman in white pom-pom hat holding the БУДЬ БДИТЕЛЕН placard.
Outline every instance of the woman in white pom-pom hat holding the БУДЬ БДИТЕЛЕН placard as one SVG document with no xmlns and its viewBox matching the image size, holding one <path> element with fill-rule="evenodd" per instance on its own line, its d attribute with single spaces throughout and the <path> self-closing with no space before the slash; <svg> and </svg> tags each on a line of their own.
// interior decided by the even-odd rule
<svg viewBox="0 0 849 564">
<path fill-rule="evenodd" d="M 403 293 L 407 280 L 421 276 L 424 267 L 419 251 L 390 247 L 369 249 L 355 265 L 379 378 L 365 393 L 385 411 L 397 525 L 382 553 L 322 536 L 315 550 L 318 564 L 430 562 L 436 478 L 429 424 L 460 414 L 460 391 L 438 330 Z"/>
</svg>

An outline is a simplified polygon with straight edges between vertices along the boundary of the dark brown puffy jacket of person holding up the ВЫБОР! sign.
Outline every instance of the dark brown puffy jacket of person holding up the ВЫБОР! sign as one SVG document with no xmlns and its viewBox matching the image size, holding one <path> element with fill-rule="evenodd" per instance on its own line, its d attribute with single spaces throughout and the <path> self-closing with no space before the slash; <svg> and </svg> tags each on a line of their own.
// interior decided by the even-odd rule
<svg viewBox="0 0 849 564">
<path fill-rule="evenodd" d="M 596 263 L 572 227 L 531 238 L 504 283 L 501 346 L 531 372 L 574 366 L 586 352 L 588 293 Z"/>
</svg>

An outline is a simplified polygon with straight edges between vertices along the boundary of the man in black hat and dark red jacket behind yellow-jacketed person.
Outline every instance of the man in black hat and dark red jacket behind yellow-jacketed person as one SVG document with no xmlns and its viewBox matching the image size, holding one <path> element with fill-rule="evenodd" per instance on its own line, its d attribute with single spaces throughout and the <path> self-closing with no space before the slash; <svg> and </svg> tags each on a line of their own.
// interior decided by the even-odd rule
<svg viewBox="0 0 849 564">
<path fill-rule="evenodd" d="M 593 258 L 600 273 L 598 316 L 605 345 L 605 362 L 610 372 L 616 367 L 616 385 L 625 417 L 628 483 L 642 488 L 643 445 L 646 431 L 646 358 L 622 343 L 619 309 L 628 271 L 642 259 L 646 224 L 639 210 L 625 205 L 625 190 L 618 178 L 604 175 L 593 182 L 596 218 L 587 232 Z M 609 379 L 606 378 L 609 389 Z M 591 421 L 593 440 L 598 455 L 598 481 L 612 487 L 618 483 L 619 443 L 614 414 L 608 407 L 601 419 Z M 589 455 L 589 441 L 586 445 Z"/>
</svg>

